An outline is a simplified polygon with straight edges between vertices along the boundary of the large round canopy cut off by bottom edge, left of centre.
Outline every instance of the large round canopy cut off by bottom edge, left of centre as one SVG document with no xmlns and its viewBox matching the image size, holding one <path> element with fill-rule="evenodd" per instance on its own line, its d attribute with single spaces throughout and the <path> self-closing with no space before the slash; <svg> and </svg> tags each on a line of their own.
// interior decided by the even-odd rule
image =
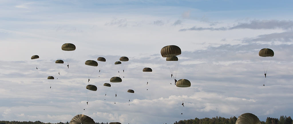
<svg viewBox="0 0 293 124">
<path fill-rule="evenodd" d="M 79 114 L 74 116 L 69 124 L 96 124 L 95 121 L 89 116 Z"/>
</svg>

